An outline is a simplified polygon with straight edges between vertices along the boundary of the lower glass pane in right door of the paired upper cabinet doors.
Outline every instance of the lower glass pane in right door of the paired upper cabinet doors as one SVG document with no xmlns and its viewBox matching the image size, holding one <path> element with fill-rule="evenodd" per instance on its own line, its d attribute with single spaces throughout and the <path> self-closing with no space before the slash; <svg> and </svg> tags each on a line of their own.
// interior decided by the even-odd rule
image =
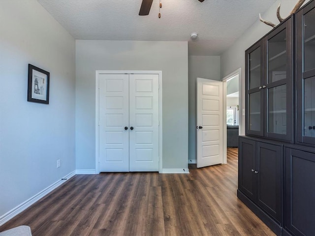
<svg viewBox="0 0 315 236">
<path fill-rule="evenodd" d="M 286 85 L 268 89 L 268 132 L 286 134 Z"/>
</svg>

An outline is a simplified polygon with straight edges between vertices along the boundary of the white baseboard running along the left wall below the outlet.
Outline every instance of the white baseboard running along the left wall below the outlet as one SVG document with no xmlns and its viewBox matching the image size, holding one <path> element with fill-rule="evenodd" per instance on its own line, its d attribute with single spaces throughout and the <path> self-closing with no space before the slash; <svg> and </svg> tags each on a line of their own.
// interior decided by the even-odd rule
<svg viewBox="0 0 315 236">
<path fill-rule="evenodd" d="M 0 216 L 0 226 L 12 219 L 14 216 L 21 213 L 26 208 L 30 207 L 32 204 L 37 202 L 39 199 L 43 198 L 47 194 L 49 194 L 51 191 L 62 185 L 65 181 L 67 181 L 69 178 L 73 177 L 75 175 L 75 171 L 71 172 L 70 174 L 66 175 L 62 179 L 56 181 L 49 187 L 45 188 L 44 190 L 40 191 L 39 193 L 32 196 L 30 199 L 26 200 L 24 203 L 20 204 L 19 206 L 13 208 L 12 210 L 6 212 L 4 215 Z"/>
</svg>

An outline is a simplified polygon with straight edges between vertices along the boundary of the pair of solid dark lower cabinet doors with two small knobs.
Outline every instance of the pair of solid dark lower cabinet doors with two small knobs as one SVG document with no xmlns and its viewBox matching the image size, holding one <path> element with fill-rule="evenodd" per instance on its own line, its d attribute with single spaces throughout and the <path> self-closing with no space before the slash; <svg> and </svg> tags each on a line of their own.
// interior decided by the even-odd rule
<svg viewBox="0 0 315 236">
<path fill-rule="evenodd" d="M 282 222 L 283 146 L 240 137 L 239 190 Z"/>
</svg>

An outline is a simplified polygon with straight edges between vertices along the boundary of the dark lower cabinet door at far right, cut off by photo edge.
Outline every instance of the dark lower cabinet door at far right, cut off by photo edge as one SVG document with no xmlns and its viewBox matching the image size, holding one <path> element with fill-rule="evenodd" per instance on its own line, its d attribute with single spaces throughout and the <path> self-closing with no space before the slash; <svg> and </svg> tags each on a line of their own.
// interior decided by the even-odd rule
<svg viewBox="0 0 315 236">
<path fill-rule="evenodd" d="M 285 148 L 285 228 L 315 235 L 315 150 Z"/>
</svg>

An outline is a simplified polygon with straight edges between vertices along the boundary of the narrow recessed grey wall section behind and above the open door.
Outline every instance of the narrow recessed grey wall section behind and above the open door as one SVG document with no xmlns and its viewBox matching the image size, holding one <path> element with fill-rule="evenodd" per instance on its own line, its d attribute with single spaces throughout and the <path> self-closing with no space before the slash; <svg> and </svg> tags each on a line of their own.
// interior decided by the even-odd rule
<svg viewBox="0 0 315 236">
<path fill-rule="evenodd" d="M 196 79 L 205 78 L 221 80 L 220 56 L 189 56 L 188 57 L 188 97 L 189 97 L 189 160 L 196 160 Z"/>
</svg>

